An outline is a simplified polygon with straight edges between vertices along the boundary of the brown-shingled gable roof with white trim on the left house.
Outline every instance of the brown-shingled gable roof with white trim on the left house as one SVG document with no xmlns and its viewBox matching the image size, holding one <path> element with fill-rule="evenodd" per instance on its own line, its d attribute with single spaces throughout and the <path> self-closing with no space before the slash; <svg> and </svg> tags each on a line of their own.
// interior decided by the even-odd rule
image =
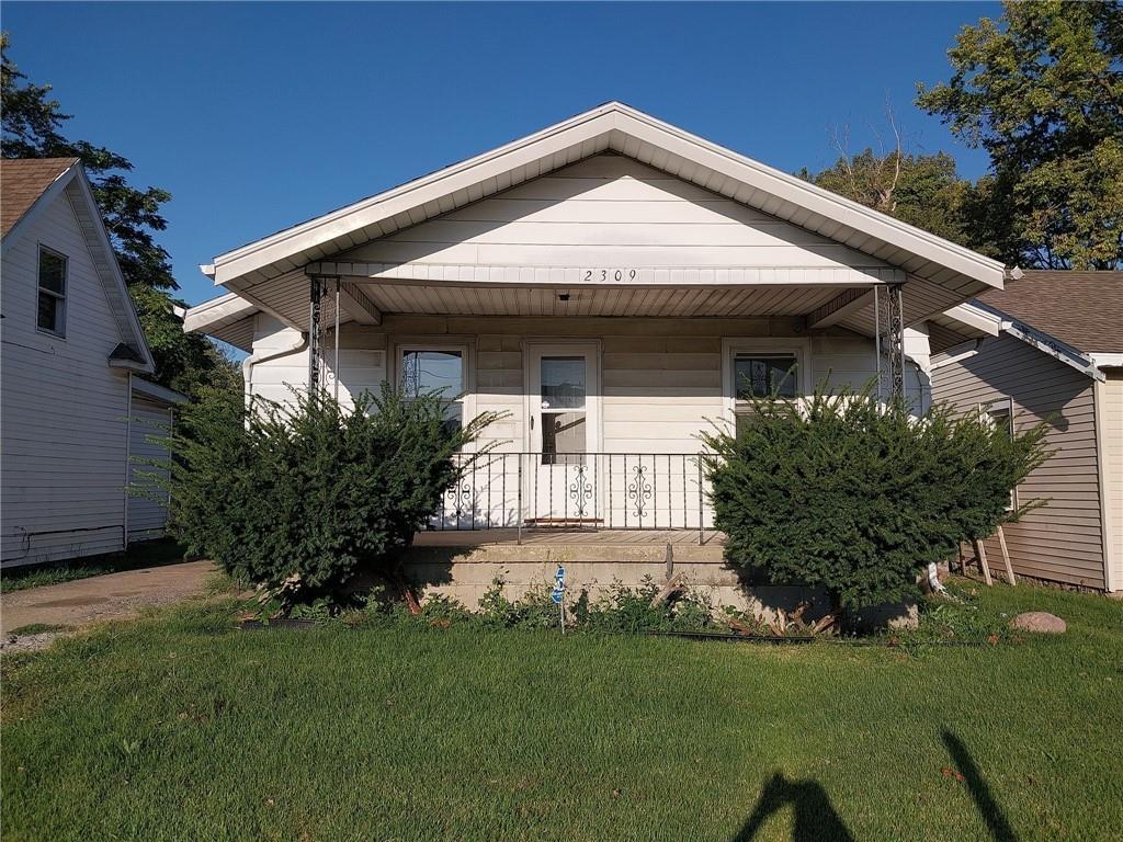
<svg viewBox="0 0 1123 842">
<path fill-rule="evenodd" d="M 85 240 L 98 280 L 120 336 L 107 363 L 115 367 L 153 373 L 156 364 L 137 319 L 121 267 L 117 265 L 106 222 L 77 158 L 4 158 L 0 163 L 0 205 L 3 254 L 18 242 L 31 221 L 52 201 L 65 198 Z M 10 220 L 10 225 L 9 225 Z M 124 345 L 124 349 L 121 348 Z"/>
</svg>

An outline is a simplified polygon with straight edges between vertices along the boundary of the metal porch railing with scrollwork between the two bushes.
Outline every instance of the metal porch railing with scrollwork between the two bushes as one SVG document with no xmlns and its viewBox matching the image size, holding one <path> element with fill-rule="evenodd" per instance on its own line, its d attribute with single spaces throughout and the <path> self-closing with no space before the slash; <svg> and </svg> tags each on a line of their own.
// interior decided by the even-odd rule
<svg viewBox="0 0 1123 842">
<path fill-rule="evenodd" d="M 457 458 L 467 461 L 467 455 Z M 697 454 L 487 452 L 441 497 L 430 530 L 713 528 Z"/>
</svg>

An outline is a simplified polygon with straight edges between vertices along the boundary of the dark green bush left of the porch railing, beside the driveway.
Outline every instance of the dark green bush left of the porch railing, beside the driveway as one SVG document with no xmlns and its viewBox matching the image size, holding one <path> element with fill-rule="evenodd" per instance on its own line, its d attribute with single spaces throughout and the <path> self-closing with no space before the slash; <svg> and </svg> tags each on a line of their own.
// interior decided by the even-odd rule
<svg viewBox="0 0 1123 842">
<path fill-rule="evenodd" d="M 454 454 L 494 415 L 453 430 L 438 395 L 389 386 L 351 411 L 326 394 L 294 400 L 247 410 L 213 391 L 185 408 L 168 441 L 168 529 L 236 580 L 311 601 L 360 567 L 394 573 L 471 464 Z"/>
</svg>

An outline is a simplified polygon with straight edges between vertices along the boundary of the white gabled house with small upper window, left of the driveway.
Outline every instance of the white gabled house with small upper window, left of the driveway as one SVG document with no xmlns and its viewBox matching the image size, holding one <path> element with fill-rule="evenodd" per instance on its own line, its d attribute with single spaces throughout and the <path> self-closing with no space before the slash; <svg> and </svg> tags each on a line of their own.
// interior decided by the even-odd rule
<svg viewBox="0 0 1123 842">
<path fill-rule="evenodd" d="M 120 550 L 165 510 L 126 493 L 131 456 L 182 401 L 153 372 L 76 158 L 0 162 L 0 519 L 4 566 Z M 137 482 L 143 482 L 137 479 Z"/>
</svg>

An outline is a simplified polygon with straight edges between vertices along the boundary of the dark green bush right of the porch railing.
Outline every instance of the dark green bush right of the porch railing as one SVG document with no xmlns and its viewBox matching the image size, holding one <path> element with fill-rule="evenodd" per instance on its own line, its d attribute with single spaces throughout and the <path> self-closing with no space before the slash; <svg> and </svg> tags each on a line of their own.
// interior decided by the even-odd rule
<svg viewBox="0 0 1123 842">
<path fill-rule="evenodd" d="M 714 524 L 732 565 L 824 587 L 836 610 L 898 602 L 925 565 L 1037 505 L 1006 511 L 1047 456 L 1044 433 L 1011 437 L 947 406 L 917 420 L 869 387 L 820 390 L 802 408 L 760 399 L 738 437 L 703 436 Z"/>
</svg>

